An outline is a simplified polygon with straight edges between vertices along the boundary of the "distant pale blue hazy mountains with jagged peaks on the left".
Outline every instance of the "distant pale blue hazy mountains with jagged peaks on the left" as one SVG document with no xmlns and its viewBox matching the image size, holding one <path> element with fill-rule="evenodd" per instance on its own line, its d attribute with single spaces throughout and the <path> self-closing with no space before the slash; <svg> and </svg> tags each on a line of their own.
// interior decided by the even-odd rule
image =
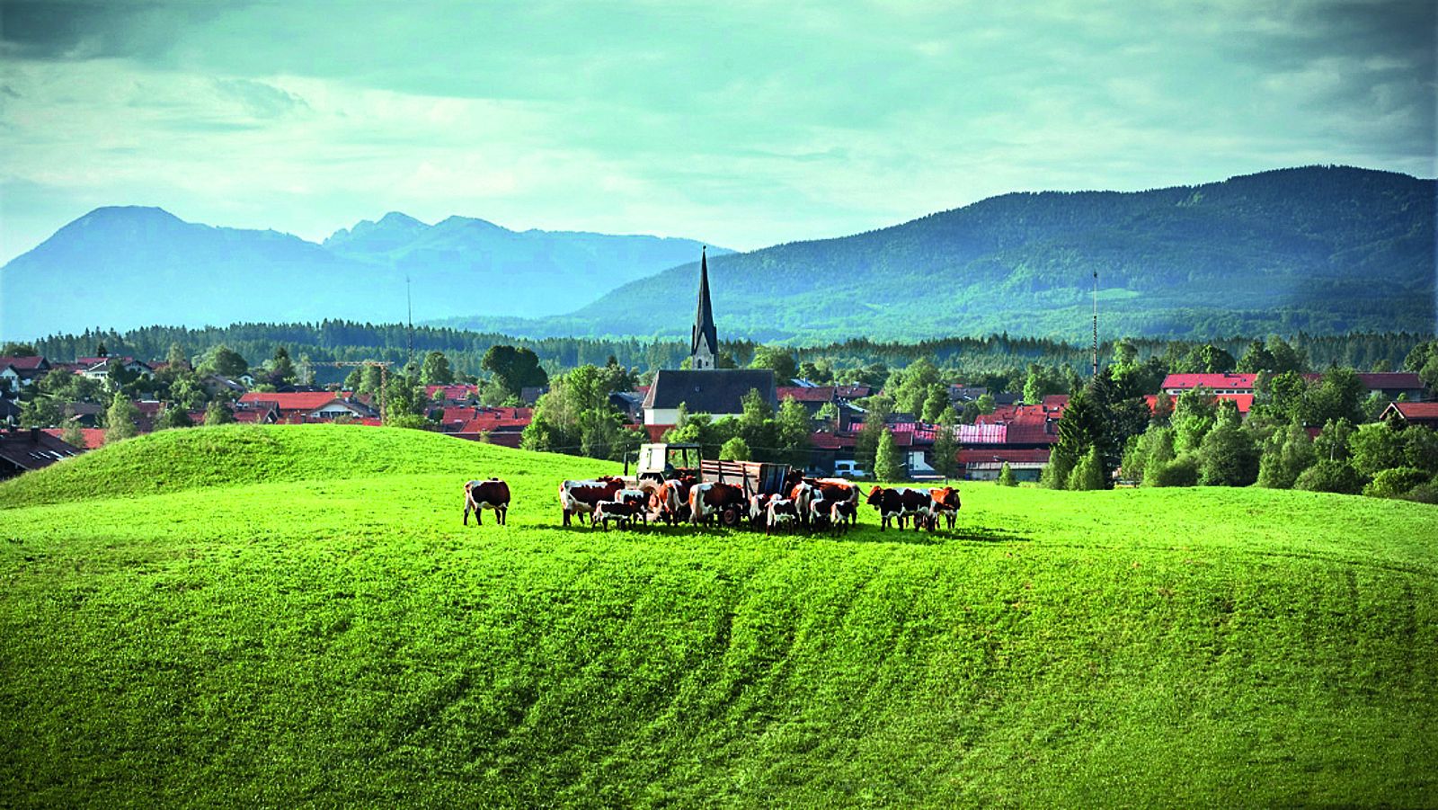
<svg viewBox="0 0 1438 810">
<path fill-rule="evenodd" d="M 151 324 L 400 322 L 406 276 L 416 318 L 539 317 L 690 260 L 700 247 L 690 239 L 513 232 L 459 216 L 430 226 L 401 213 L 315 245 L 188 223 L 155 207 L 104 207 L 0 269 L 0 337 Z"/>
</svg>

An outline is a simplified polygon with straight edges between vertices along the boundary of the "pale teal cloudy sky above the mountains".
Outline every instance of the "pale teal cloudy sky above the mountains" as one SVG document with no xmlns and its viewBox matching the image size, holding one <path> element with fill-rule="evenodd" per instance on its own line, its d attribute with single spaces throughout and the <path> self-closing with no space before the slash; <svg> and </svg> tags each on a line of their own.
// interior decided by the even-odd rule
<svg viewBox="0 0 1438 810">
<path fill-rule="evenodd" d="M 1434 177 L 1438 3 L 0 0 L 0 262 L 99 206 L 735 249 L 1008 191 Z"/>
</svg>

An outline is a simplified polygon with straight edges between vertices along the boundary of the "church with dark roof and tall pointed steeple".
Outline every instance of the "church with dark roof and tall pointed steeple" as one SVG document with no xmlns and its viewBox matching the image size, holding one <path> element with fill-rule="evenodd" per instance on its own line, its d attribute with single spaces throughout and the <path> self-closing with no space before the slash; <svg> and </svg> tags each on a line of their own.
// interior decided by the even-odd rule
<svg viewBox="0 0 1438 810">
<path fill-rule="evenodd" d="M 715 368 L 719 335 L 715 329 L 713 302 L 709 299 L 709 256 L 699 255 L 699 306 L 689 338 L 689 368 L 661 368 L 644 394 L 644 429 L 651 442 L 679 422 L 679 406 L 689 413 L 707 413 L 715 419 L 743 413 L 743 396 L 759 391 L 771 407 L 775 399 L 774 371 L 768 368 Z"/>
</svg>

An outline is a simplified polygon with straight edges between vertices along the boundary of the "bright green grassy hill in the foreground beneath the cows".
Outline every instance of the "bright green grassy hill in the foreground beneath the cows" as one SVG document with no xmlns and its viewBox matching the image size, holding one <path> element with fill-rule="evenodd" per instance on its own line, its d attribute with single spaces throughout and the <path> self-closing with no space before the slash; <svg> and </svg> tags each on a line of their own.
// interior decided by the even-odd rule
<svg viewBox="0 0 1438 810">
<path fill-rule="evenodd" d="M 1438 509 L 968 485 L 952 534 L 559 528 L 605 469 L 226 427 L 0 485 L 0 804 L 1438 796 Z M 462 527 L 490 473 L 510 525 Z"/>
</svg>

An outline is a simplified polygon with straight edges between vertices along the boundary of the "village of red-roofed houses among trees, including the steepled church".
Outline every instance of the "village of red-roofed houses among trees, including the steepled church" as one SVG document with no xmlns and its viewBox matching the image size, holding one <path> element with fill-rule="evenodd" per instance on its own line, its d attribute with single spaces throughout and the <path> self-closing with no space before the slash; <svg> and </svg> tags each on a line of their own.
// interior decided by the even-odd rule
<svg viewBox="0 0 1438 810">
<path fill-rule="evenodd" d="M 605 450 L 615 460 L 633 453 L 640 442 L 674 437 L 676 429 L 683 429 L 699 414 L 707 414 L 705 424 L 743 419 L 746 399 L 755 397 L 756 407 L 768 419 L 789 401 L 804 409 L 808 423 L 800 430 L 807 432 L 807 437 L 791 437 L 782 452 L 789 463 L 811 475 L 871 478 L 876 472 L 873 437 L 867 449 L 864 446 L 864 426 L 870 420 L 879 423 L 874 427 L 881 424 L 886 442 L 892 442 L 896 458 L 887 472 L 897 472 L 907 481 L 994 481 L 1005 476 L 1014 482 L 1035 482 L 1060 442 L 1060 427 L 1071 399 L 1068 393 L 1045 393 L 1041 387 L 1028 386 L 1025 396 L 1022 390 L 989 390 L 929 380 L 926 399 L 922 400 L 923 413 L 917 413 L 919 407 L 896 407 L 899 400 L 892 386 L 818 383 L 797 374 L 781 374 L 785 368 L 720 368 L 722 351 L 705 259 L 700 260 L 697 286 L 690 357 L 684 368 L 657 370 L 649 376 L 647 384 L 604 391 L 618 429 L 615 436 L 623 437 Z M 99 447 L 106 440 L 161 429 L 229 422 L 380 426 L 395 423 L 397 410 L 406 416 L 398 422 L 401 424 L 457 439 L 581 452 L 580 446 L 555 446 L 554 442 L 546 446 L 533 437 L 526 442 L 536 410 L 544 410 L 541 399 L 549 391 L 548 386 L 519 386 L 508 404 L 482 404 L 479 381 L 454 381 L 443 355 L 427 358 L 427 363 L 444 370 L 444 374 L 427 374 L 440 377 L 441 383 L 426 384 L 424 376 L 411 378 L 413 391 L 401 391 L 400 397 L 388 384 L 388 364 L 378 361 L 331 364 L 352 367 L 345 380 L 351 387 L 296 384 L 295 376 L 286 374 L 292 361 L 283 347 L 276 350 L 276 363 L 267 364 L 266 371 L 244 368 L 243 361 L 240 365 L 234 363 L 233 358 L 211 354 L 196 368 L 183 354 L 142 360 L 109 355 L 104 347 L 98 347 L 92 357 L 69 361 L 37 354 L 0 357 L 0 423 L 7 427 L 0 434 L 0 478 L 47 466 Z M 1096 354 L 1096 371 L 1097 365 Z M 1152 368 L 1150 364 L 1148 370 L 1152 373 Z M 364 387 L 360 383 L 367 376 L 371 390 L 357 391 Z M 301 377 L 312 378 L 313 373 Z M 1166 373 L 1156 391 L 1142 394 L 1146 413 L 1139 419 L 1166 417 L 1181 397 L 1198 391 L 1219 410 L 1228 409 L 1237 419 L 1247 420 L 1255 401 L 1277 396 L 1260 390 L 1264 377 L 1263 371 Z M 374 378 L 384 383 L 375 386 Z M 618 378 L 638 380 L 640 376 L 626 373 Z M 1319 386 L 1323 374 L 1306 373 L 1301 380 L 1303 384 Z M 1362 401 L 1369 422 L 1438 427 L 1438 403 L 1428 401 L 1431 390 L 1416 371 L 1359 371 L 1353 380 L 1356 383 L 1349 384 L 1353 390 L 1347 396 Z M 124 391 L 132 388 L 164 388 L 171 399 L 127 397 Z M 394 401 L 385 403 L 384 391 L 391 391 Z M 106 406 L 106 401 L 111 404 Z M 755 407 L 755 403 L 749 404 Z M 116 429 L 109 422 L 128 424 Z M 1323 419 L 1314 422 L 1306 424 L 1310 439 L 1319 437 L 1324 426 Z M 690 430 L 689 436 L 695 437 L 695 432 Z M 745 447 L 743 455 L 762 458 L 778 450 Z M 1120 481 L 1123 475 L 1122 469 L 1113 472 Z"/>
</svg>

